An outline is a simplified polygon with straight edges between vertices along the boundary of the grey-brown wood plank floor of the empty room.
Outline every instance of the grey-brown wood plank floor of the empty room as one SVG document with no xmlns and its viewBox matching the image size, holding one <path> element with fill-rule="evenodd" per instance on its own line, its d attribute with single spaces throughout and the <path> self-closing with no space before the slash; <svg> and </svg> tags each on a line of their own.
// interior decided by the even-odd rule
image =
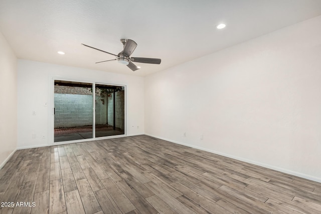
<svg viewBox="0 0 321 214">
<path fill-rule="evenodd" d="M 321 213 L 321 183 L 140 135 L 18 150 L 0 213 Z"/>
</svg>

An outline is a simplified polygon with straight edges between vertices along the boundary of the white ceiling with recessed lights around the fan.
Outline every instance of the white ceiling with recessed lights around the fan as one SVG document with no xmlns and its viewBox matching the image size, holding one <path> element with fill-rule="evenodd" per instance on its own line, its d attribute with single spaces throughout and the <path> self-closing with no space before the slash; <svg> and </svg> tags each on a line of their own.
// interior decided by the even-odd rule
<svg viewBox="0 0 321 214">
<path fill-rule="evenodd" d="M 20 59 L 145 76 L 320 15 L 320 0 L 0 0 L 0 32 Z M 114 57 L 80 45 L 118 54 L 122 38 L 161 65 L 95 64 Z"/>
</svg>

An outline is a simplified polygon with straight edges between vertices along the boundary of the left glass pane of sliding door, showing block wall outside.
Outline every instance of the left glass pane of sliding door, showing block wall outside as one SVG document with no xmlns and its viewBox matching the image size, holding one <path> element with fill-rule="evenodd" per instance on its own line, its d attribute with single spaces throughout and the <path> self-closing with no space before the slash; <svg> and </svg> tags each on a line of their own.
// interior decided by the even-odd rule
<svg viewBox="0 0 321 214">
<path fill-rule="evenodd" d="M 91 83 L 55 80 L 54 142 L 93 138 Z"/>
</svg>

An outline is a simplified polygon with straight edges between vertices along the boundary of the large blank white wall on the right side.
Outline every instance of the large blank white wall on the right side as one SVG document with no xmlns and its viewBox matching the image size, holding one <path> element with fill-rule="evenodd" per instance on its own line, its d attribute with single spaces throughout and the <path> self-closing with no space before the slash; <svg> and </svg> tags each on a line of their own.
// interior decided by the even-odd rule
<svg viewBox="0 0 321 214">
<path fill-rule="evenodd" d="M 321 182 L 320 26 L 317 17 L 147 76 L 145 133 Z"/>
</svg>

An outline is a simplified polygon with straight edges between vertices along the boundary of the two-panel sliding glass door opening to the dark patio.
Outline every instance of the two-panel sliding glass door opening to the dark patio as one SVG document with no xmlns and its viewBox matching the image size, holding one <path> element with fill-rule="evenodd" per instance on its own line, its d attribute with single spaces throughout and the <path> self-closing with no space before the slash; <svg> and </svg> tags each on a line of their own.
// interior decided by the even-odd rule
<svg viewBox="0 0 321 214">
<path fill-rule="evenodd" d="M 65 80 L 54 84 L 54 142 L 125 134 L 124 86 Z"/>
</svg>

